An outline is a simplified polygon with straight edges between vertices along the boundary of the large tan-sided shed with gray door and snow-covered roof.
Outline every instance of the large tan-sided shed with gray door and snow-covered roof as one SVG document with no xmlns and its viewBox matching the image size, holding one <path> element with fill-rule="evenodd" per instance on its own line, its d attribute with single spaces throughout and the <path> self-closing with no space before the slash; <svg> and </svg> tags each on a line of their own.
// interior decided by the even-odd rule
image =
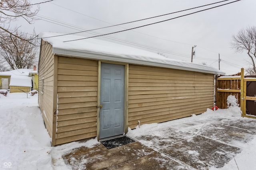
<svg viewBox="0 0 256 170">
<path fill-rule="evenodd" d="M 53 146 L 203 113 L 224 74 L 99 39 L 40 37 L 38 104 Z"/>
</svg>

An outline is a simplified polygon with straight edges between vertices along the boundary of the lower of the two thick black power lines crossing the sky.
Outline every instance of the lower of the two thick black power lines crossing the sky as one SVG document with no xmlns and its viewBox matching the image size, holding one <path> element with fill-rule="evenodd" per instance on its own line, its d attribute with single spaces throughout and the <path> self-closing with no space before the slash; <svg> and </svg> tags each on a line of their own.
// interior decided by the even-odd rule
<svg viewBox="0 0 256 170">
<path fill-rule="evenodd" d="M 140 28 L 140 27 L 145 27 L 145 26 L 148 26 L 148 25 L 153 25 L 153 24 L 156 24 L 156 23 L 161 23 L 161 22 L 165 22 L 165 21 L 173 20 L 173 19 L 176 19 L 176 18 L 180 18 L 180 17 L 188 16 L 188 15 L 191 15 L 191 14 L 196 14 L 196 13 L 198 13 L 198 12 L 202 12 L 202 11 L 210 10 L 210 9 L 213 9 L 213 8 L 217 8 L 217 7 L 224 6 L 224 5 L 231 4 L 231 3 L 234 3 L 234 2 L 238 2 L 238 1 L 240 1 L 240 0 L 236 0 L 236 1 L 229 2 L 229 3 L 226 3 L 226 4 L 222 4 L 222 5 L 219 5 L 219 6 L 214 6 L 214 7 L 212 7 L 212 8 L 207 8 L 207 9 L 204 9 L 204 10 L 200 10 L 200 11 L 192 12 L 192 13 L 190 13 L 190 14 L 185 14 L 185 15 L 182 15 L 182 16 L 178 16 L 178 17 L 170 18 L 170 19 L 168 19 L 168 20 L 158 21 L 158 22 L 149 23 L 149 24 L 146 24 L 146 25 L 138 26 L 138 27 L 133 27 L 133 28 L 130 28 L 130 29 L 124 29 L 124 30 L 121 30 L 121 31 L 116 31 L 116 32 L 112 32 L 112 33 L 106 33 L 106 34 L 102 34 L 102 35 L 96 35 L 96 36 L 86 37 L 86 38 L 81 38 L 81 39 L 88 39 L 88 38 L 100 37 L 100 36 L 103 36 L 103 35 L 110 35 L 110 34 L 114 34 L 114 33 L 120 33 L 120 32 L 124 32 L 124 31 L 128 31 L 128 30 L 131 30 L 131 29 L 136 29 L 136 28 Z M 95 29 L 94 29 L 94 30 L 95 30 Z M 74 39 L 74 40 L 63 41 L 63 42 L 77 41 L 77 40 L 81 40 L 81 39 Z"/>
</svg>

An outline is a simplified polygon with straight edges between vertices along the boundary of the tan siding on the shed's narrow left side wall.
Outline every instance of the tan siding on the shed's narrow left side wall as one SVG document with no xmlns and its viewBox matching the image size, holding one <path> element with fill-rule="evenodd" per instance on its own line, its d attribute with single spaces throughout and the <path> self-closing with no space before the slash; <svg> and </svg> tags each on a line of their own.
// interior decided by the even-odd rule
<svg viewBox="0 0 256 170">
<path fill-rule="evenodd" d="M 52 46 L 42 41 L 40 58 L 38 67 L 38 105 L 42 111 L 44 123 L 52 137 L 53 126 L 53 82 L 54 82 L 54 55 L 52 54 Z M 42 79 L 44 78 L 44 86 L 42 87 Z M 44 90 L 42 89 L 44 88 Z"/>
</svg>

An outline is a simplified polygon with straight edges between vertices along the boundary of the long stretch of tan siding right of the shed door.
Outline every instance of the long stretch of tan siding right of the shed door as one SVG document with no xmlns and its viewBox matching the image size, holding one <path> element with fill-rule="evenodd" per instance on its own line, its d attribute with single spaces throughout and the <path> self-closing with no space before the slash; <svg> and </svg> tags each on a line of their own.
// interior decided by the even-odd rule
<svg viewBox="0 0 256 170">
<path fill-rule="evenodd" d="M 128 126 L 203 113 L 213 106 L 213 84 L 213 74 L 130 65 Z"/>
</svg>

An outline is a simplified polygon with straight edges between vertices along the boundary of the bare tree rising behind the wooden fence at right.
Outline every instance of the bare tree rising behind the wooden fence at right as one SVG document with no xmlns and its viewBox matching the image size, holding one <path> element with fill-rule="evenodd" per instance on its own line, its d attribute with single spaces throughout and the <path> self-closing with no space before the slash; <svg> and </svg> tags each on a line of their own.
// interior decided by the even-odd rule
<svg viewBox="0 0 256 170">
<path fill-rule="evenodd" d="M 237 52 L 246 51 L 252 61 L 252 69 L 256 74 L 256 27 L 241 29 L 236 35 L 232 36 L 232 47 Z"/>
</svg>

